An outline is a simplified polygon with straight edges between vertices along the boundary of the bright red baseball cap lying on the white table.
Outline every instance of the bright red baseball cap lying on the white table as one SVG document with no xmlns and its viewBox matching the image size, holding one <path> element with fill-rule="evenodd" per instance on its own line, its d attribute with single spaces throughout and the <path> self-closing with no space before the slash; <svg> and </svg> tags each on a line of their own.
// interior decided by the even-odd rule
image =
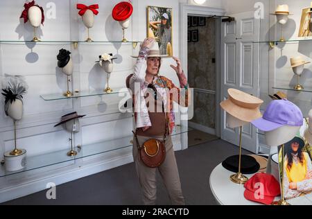
<svg viewBox="0 0 312 219">
<path fill-rule="evenodd" d="M 271 204 L 275 196 L 281 195 L 279 182 L 268 173 L 256 173 L 244 187 L 245 199 L 262 204 Z"/>
</svg>

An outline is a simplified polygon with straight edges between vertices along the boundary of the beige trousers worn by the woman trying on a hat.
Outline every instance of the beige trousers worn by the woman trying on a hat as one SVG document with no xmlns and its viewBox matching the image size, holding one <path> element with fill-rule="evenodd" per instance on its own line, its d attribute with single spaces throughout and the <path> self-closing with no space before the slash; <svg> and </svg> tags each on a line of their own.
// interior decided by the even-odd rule
<svg viewBox="0 0 312 219">
<path fill-rule="evenodd" d="M 159 139 L 163 137 L 142 137 L 138 136 L 140 146 L 148 139 Z M 162 165 L 157 168 L 150 168 L 146 166 L 138 157 L 137 141 L 133 139 L 133 159 L 135 160 L 135 168 L 142 189 L 143 202 L 146 205 L 154 205 L 156 202 L 156 170 L 159 170 L 164 185 L 171 199 L 173 205 L 184 205 L 184 197 L 182 195 L 179 172 L 177 170 L 177 161 L 175 160 L 175 153 L 173 151 L 173 143 L 171 136 L 166 137 L 166 158 Z"/>
</svg>

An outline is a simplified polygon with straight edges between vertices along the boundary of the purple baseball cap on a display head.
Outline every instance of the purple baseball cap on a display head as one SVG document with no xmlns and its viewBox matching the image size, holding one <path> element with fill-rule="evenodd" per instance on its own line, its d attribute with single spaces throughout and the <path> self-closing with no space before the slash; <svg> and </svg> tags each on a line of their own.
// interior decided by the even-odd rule
<svg viewBox="0 0 312 219">
<path fill-rule="evenodd" d="M 263 132 L 270 132 L 283 125 L 301 126 L 303 125 L 302 112 L 291 101 L 272 100 L 262 118 L 251 122 L 256 128 Z"/>
</svg>

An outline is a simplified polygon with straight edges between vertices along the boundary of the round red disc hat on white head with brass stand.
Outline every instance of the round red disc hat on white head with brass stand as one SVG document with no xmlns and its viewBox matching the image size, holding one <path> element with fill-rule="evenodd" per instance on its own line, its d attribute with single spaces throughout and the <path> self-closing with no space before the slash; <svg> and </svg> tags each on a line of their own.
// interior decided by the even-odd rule
<svg viewBox="0 0 312 219">
<path fill-rule="evenodd" d="M 121 1 L 114 6 L 112 10 L 112 17 L 114 20 L 119 21 L 121 28 L 123 29 L 123 39 L 121 42 L 128 42 L 125 38 L 125 29 L 130 25 L 130 17 L 133 12 L 133 6 L 130 2 Z"/>
</svg>

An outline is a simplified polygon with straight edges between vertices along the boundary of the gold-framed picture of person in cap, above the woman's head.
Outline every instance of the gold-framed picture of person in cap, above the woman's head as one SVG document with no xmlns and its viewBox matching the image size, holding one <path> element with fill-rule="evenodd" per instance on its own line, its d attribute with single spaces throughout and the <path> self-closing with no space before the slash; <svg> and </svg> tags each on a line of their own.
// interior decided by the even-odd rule
<svg viewBox="0 0 312 219">
<path fill-rule="evenodd" d="M 147 7 L 147 37 L 158 42 L 161 55 L 173 55 L 172 8 Z"/>
</svg>

